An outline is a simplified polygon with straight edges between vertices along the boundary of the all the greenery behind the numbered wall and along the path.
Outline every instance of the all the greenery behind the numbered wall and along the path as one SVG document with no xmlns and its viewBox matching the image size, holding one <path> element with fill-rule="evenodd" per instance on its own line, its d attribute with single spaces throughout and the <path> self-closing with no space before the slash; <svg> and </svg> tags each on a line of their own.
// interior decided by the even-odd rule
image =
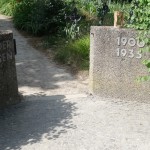
<svg viewBox="0 0 150 150">
<path fill-rule="evenodd" d="M 0 12 L 13 16 L 15 27 L 19 30 L 43 37 L 43 47 L 53 49 L 56 61 L 73 68 L 88 69 L 90 26 L 113 25 L 114 11 L 124 12 L 125 24 L 149 32 L 149 0 L 105 2 L 102 0 L 1 0 Z M 149 46 L 148 39 L 147 44 Z M 150 61 L 145 60 L 143 63 L 149 70 Z"/>
</svg>

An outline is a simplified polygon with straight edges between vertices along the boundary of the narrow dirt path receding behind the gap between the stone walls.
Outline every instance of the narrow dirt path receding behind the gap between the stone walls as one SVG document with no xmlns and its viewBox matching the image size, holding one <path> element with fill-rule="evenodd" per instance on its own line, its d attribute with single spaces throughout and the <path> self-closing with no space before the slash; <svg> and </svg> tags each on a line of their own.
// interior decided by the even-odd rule
<svg viewBox="0 0 150 150">
<path fill-rule="evenodd" d="M 23 95 L 81 94 L 87 91 L 87 80 L 82 81 L 66 69 L 50 61 L 16 31 L 10 19 L 0 16 L 0 29 L 11 29 L 17 42 L 17 75 L 19 91 Z"/>
</svg>

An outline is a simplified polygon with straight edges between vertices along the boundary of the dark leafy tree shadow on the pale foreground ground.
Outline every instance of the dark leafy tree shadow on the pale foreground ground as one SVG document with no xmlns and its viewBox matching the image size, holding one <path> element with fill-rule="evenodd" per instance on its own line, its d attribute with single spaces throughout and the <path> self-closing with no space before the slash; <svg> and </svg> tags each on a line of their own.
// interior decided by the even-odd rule
<svg viewBox="0 0 150 150">
<path fill-rule="evenodd" d="M 28 96 L 26 101 L 0 110 L 0 150 L 16 150 L 40 142 L 43 136 L 52 140 L 75 129 L 76 104 L 63 95 Z"/>
</svg>

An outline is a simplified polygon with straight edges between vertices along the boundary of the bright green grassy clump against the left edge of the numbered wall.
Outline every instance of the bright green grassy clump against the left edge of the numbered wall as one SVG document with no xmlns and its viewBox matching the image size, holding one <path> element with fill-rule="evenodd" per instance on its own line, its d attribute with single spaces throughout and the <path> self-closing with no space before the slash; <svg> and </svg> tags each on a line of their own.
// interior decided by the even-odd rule
<svg viewBox="0 0 150 150">
<path fill-rule="evenodd" d="M 85 69 L 89 66 L 89 50 L 90 37 L 88 35 L 61 47 L 56 52 L 55 59 L 61 63 Z"/>
</svg>

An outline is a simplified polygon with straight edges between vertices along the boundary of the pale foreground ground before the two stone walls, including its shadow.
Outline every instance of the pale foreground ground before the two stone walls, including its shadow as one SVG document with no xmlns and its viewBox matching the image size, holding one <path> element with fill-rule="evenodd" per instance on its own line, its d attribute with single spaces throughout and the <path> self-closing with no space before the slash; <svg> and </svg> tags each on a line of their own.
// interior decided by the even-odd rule
<svg viewBox="0 0 150 150">
<path fill-rule="evenodd" d="M 1 150 L 149 150 L 150 103 L 28 96 L 0 111 Z"/>
</svg>

